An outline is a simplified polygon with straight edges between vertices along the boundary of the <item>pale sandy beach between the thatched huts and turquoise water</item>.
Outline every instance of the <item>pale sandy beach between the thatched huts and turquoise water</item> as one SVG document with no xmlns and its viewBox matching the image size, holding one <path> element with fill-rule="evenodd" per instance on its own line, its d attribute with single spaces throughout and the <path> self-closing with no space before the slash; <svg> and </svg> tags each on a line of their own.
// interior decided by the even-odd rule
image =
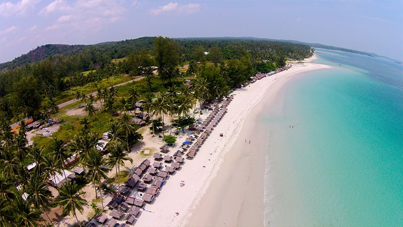
<svg viewBox="0 0 403 227">
<path fill-rule="evenodd" d="M 266 150 L 267 138 L 263 137 L 267 133 L 255 133 L 264 130 L 256 130 L 255 119 L 262 109 L 259 103 L 263 99 L 275 102 L 276 93 L 302 72 L 330 68 L 309 63 L 314 59 L 293 63 L 287 71 L 235 90 L 228 113 L 197 156 L 186 160 L 184 169 L 170 176 L 158 199 L 147 206 L 149 212 L 143 212 L 136 225 L 262 225 L 265 152 L 259 151 Z M 271 95 L 266 94 L 268 90 L 272 90 Z M 180 187 L 181 181 L 184 187 Z"/>
</svg>

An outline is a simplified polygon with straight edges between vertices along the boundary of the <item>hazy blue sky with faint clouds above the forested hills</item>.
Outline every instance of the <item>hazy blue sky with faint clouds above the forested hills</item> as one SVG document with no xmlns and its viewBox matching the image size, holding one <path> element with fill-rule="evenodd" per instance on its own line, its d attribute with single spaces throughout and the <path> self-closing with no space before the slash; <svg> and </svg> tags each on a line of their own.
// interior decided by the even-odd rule
<svg viewBox="0 0 403 227">
<path fill-rule="evenodd" d="M 0 62 L 48 43 L 158 35 L 292 39 L 403 61 L 403 0 L 0 1 Z"/>
</svg>

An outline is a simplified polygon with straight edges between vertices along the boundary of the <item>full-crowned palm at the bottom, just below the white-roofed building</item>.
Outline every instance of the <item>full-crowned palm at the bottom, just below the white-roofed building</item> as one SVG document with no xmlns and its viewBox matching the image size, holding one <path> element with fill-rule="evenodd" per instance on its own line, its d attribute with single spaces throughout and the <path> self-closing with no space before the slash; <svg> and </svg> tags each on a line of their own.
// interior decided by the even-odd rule
<svg viewBox="0 0 403 227">
<path fill-rule="evenodd" d="M 80 223 L 76 210 L 82 213 L 84 209 L 83 205 L 87 204 L 87 201 L 81 198 L 81 195 L 84 194 L 84 192 L 80 192 L 78 185 L 76 183 L 71 183 L 70 181 L 63 184 L 63 186 L 58 188 L 57 191 L 59 191 L 59 200 L 57 201 L 57 204 L 63 207 L 64 213 L 74 214 L 77 222 Z"/>
</svg>

